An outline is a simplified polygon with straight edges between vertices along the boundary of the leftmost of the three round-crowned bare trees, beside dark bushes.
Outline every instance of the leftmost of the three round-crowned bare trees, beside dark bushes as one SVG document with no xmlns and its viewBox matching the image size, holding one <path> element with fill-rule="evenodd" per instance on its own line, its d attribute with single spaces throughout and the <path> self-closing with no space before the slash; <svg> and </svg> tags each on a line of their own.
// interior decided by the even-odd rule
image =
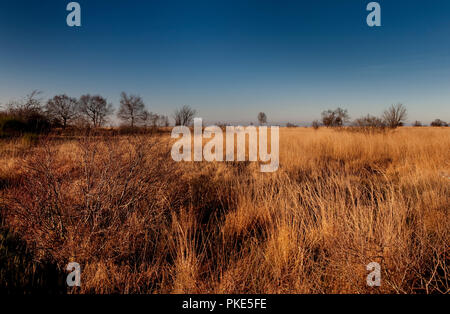
<svg viewBox="0 0 450 314">
<path fill-rule="evenodd" d="M 58 120 L 63 129 L 67 123 L 78 116 L 78 100 L 67 95 L 57 95 L 50 99 L 45 106 L 47 115 Z"/>
</svg>

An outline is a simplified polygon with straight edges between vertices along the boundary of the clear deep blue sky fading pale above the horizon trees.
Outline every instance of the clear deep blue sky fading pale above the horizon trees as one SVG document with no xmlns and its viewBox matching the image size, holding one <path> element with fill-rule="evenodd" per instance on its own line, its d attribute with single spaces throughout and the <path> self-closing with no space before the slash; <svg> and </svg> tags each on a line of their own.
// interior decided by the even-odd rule
<svg viewBox="0 0 450 314">
<path fill-rule="evenodd" d="M 382 27 L 363 0 L 0 0 L 0 103 L 33 89 L 121 91 L 209 122 L 352 118 L 402 102 L 409 121 L 450 120 L 450 1 L 385 0 Z"/>
</svg>

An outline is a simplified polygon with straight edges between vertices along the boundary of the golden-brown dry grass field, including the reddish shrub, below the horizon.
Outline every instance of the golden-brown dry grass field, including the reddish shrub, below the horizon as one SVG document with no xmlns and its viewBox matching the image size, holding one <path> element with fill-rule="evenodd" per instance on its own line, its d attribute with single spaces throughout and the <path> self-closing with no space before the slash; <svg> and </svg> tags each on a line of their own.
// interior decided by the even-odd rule
<svg viewBox="0 0 450 314">
<path fill-rule="evenodd" d="M 170 148 L 168 135 L 1 142 L 24 274 L 78 262 L 70 293 L 450 291 L 449 128 L 282 128 L 275 173 L 175 163 Z"/>
</svg>

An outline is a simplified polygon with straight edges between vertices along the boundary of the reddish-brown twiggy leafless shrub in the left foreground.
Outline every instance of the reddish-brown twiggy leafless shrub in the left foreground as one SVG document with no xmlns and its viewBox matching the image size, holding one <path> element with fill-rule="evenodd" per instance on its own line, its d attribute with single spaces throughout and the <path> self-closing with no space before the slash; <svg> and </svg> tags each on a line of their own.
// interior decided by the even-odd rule
<svg viewBox="0 0 450 314">
<path fill-rule="evenodd" d="M 44 143 L 8 197 L 12 224 L 38 258 L 59 265 L 162 263 L 167 248 L 157 239 L 168 229 L 166 191 L 177 177 L 167 153 L 143 138 L 82 138 L 59 149 Z M 102 289 L 120 288 L 105 282 Z"/>
</svg>

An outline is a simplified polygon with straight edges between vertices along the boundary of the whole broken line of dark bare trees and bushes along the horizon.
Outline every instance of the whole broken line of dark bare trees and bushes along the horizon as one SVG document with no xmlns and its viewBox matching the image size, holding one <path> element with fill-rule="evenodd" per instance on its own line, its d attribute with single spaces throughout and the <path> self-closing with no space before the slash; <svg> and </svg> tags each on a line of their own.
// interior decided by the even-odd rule
<svg viewBox="0 0 450 314">
<path fill-rule="evenodd" d="M 101 128 L 114 115 L 121 121 L 122 127 L 131 129 L 141 127 L 168 127 L 169 117 L 149 111 L 140 96 L 122 92 L 117 111 L 114 106 L 100 95 L 85 94 L 79 98 L 66 94 L 56 95 L 47 101 L 41 98 L 41 92 L 33 91 L 20 101 L 12 101 L 6 110 L 0 112 L 0 135 L 7 133 L 42 133 L 52 128 L 65 130 L 69 126 L 80 128 Z M 191 125 L 196 111 L 188 105 L 176 109 L 172 118 L 175 125 Z M 321 126 L 339 128 L 345 125 L 364 130 L 395 129 L 403 126 L 407 120 L 407 110 L 403 104 L 392 105 L 380 117 L 367 115 L 351 121 L 347 109 L 325 110 L 320 120 L 314 120 L 312 127 Z M 267 115 L 259 112 L 260 125 L 267 124 Z M 292 123 L 288 127 L 294 127 Z M 423 126 L 415 121 L 413 126 Z M 448 126 L 443 120 L 436 119 L 431 126 Z"/>
</svg>

